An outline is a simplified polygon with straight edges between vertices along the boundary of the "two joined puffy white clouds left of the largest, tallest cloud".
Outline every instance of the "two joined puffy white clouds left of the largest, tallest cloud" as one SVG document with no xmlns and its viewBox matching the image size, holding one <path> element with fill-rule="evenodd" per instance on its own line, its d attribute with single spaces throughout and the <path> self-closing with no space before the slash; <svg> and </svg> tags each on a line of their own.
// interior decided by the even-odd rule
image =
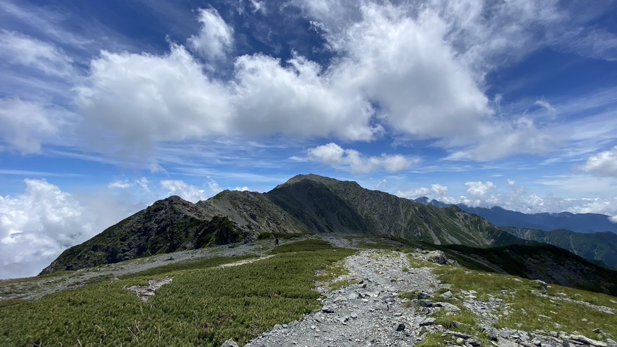
<svg viewBox="0 0 617 347">
<path fill-rule="evenodd" d="M 207 77 L 183 46 L 165 56 L 102 52 L 91 62 L 75 104 L 85 116 L 83 132 L 106 131 L 104 148 L 125 144 L 139 156 L 159 141 L 214 135 L 283 133 L 306 138 L 334 135 L 369 140 L 370 104 L 321 78 L 303 57 L 287 67 L 277 59 L 238 57 L 236 81 Z"/>
</svg>

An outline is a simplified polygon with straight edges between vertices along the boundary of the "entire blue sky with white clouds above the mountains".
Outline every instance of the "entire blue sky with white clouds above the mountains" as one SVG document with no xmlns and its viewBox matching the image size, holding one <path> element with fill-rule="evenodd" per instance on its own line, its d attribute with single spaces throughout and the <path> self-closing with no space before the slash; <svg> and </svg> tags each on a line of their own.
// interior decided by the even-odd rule
<svg viewBox="0 0 617 347">
<path fill-rule="evenodd" d="M 616 1 L 0 2 L 0 278 L 297 174 L 617 222 Z"/>
</svg>

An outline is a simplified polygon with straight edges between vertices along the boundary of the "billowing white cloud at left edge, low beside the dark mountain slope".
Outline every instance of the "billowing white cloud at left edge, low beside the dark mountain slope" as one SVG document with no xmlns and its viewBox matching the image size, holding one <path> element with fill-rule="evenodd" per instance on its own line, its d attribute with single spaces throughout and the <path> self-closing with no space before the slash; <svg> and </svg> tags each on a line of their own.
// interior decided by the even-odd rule
<svg viewBox="0 0 617 347">
<path fill-rule="evenodd" d="M 46 180 L 25 183 L 25 193 L 0 196 L 0 278 L 38 274 L 65 248 L 100 231 L 72 195 Z"/>
</svg>

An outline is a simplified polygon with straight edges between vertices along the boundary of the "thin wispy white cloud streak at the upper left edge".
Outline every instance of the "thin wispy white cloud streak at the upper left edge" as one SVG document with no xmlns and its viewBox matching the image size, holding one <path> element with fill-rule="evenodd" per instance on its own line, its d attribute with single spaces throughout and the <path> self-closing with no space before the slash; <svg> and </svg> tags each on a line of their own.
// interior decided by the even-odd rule
<svg viewBox="0 0 617 347">
<path fill-rule="evenodd" d="M 14 31 L 0 31 L 0 57 L 50 76 L 66 78 L 73 74 L 73 60 L 54 44 Z"/>
</svg>

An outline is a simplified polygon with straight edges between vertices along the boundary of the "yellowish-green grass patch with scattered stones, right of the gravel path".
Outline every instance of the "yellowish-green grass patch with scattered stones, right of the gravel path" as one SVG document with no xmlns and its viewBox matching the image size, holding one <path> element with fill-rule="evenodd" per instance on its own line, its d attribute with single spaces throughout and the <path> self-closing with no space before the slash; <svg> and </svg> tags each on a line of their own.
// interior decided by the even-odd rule
<svg viewBox="0 0 617 347">
<path fill-rule="evenodd" d="M 503 315 L 494 325 L 499 328 L 515 328 L 526 331 L 541 329 L 545 331 L 563 330 L 578 331 L 590 338 L 597 339 L 593 332 L 600 328 L 607 336 L 617 337 L 617 317 L 600 312 L 584 304 L 572 303 L 565 300 L 544 298 L 532 293 L 540 290 L 536 282 L 511 275 L 499 275 L 489 272 L 466 270 L 460 267 L 442 266 L 434 270 L 439 279 L 449 283 L 452 293 L 456 296 L 460 290 L 478 291 L 479 300 L 489 301 L 489 294 L 503 299 L 503 304 L 510 304 L 510 313 Z M 617 304 L 610 302 L 613 296 L 576 290 L 563 286 L 553 285 L 547 293 L 560 297 L 557 293 L 597 304 L 603 304 L 617 311 Z M 578 294 L 578 295 L 577 295 Z M 452 302 L 452 301 L 450 301 Z M 547 319 L 546 317 L 550 317 Z M 584 324 L 586 318 L 593 324 Z M 559 325 L 555 325 L 555 323 Z M 610 335 L 608 335 L 610 334 Z"/>
</svg>

